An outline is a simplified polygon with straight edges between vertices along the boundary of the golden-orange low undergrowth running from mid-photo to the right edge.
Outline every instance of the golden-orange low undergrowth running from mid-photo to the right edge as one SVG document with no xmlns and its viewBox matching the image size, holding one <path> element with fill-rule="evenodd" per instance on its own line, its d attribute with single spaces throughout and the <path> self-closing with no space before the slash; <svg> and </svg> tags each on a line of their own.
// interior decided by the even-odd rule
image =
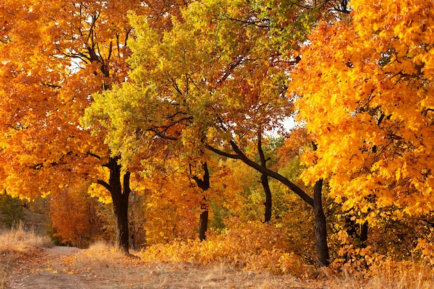
<svg viewBox="0 0 434 289">
<path fill-rule="evenodd" d="M 346 252 L 349 260 L 336 259 L 329 268 L 306 265 L 300 256 L 286 252 L 287 240 L 272 225 L 232 220 L 231 229 L 207 240 L 173 241 L 152 245 L 139 254 L 143 261 L 218 265 L 226 263 L 248 272 L 268 272 L 322 281 L 331 289 L 431 289 L 434 288 L 434 247 L 420 241 L 417 258 L 394 261 L 374 254 L 370 247 Z M 416 253 L 416 252 L 415 252 Z"/>
</svg>

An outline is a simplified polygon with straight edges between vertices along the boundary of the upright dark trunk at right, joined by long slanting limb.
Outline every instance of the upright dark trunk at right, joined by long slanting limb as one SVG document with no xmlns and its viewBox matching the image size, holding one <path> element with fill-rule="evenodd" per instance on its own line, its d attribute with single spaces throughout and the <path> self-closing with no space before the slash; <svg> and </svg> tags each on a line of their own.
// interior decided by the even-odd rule
<svg viewBox="0 0 434 289">
<path fill-rule="evenodd" d="M 313 186 L 313 211 L 315 212 L 315 233 L 318 264 L 330 264 L 329 246 L 327 245 L 327 226 L 324 210 L 322 209 L 322 179 Z"/>
</svg>

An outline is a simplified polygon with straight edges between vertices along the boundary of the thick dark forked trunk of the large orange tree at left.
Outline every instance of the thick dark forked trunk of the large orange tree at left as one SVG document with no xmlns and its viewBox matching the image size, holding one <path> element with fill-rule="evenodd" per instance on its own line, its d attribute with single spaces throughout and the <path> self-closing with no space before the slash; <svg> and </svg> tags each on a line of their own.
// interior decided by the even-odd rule
<svg viewBox="0 0 434 289">
<path fill-rule="evenodd" d="M 110 157 L 104 166 L 110 169 L 110 179 L 107 182 L 98 180 L 112 195 L 114 216 L 116 218 L 116 243 L 123 253 L 130 252 L 130 232 L 128 229 L 128 198 L 130 197 L 130 172 L 123 175 L 121 183 L 121 165 L 119 157 Z"/>
</svg>

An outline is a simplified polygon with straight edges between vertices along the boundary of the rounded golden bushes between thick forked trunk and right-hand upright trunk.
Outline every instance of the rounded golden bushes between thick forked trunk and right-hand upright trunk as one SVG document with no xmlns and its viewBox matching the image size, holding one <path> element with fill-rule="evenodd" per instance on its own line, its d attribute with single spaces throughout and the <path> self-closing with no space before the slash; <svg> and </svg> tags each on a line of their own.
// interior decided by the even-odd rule
<svg viewBox="0 0 434 289">
<path fill-rule="evenodd" d="M 305 265 L 299 256 L 286 252 L 287 240 L 273 225 L 233 219 L 230 228 L 222 234 L 210 232 L 204 242 L 178 240 L 152 245 L 139 256 L 148 262 L 227 263 L 248 272 L 288 273 L 298 277 L 313 274 L 313 266 Z"/>
</svg>

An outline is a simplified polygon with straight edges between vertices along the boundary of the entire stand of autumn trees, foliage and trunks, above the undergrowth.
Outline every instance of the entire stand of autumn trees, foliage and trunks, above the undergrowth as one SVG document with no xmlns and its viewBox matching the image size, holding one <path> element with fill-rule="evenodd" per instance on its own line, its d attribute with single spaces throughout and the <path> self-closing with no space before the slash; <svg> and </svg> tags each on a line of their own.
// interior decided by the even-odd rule
<svg viewBox="0 0 434 289">
<path fill-rule="evenodd" d="M 311 238 L 318 265 L 351 259 L 345 242 L 381 247 L 381 229 L 399 244 L 394 232 L 410 227 L 415 247 L 434 236 L 432 8 L 3 1 L 0 191 L 51 195 L 59 237 L 76 243 L 76 231 L 101 233 L 85 234 L 100 216 L 70 226 L 63 208 L 78 220 L 94 213 L 89 196 L 112 202 L 124 252 L 136 233 L 148 245 L 205 240 L 208 218 L 210 236 L 226 224 L 259 234 L 263 221 Z"/>
</svg>

